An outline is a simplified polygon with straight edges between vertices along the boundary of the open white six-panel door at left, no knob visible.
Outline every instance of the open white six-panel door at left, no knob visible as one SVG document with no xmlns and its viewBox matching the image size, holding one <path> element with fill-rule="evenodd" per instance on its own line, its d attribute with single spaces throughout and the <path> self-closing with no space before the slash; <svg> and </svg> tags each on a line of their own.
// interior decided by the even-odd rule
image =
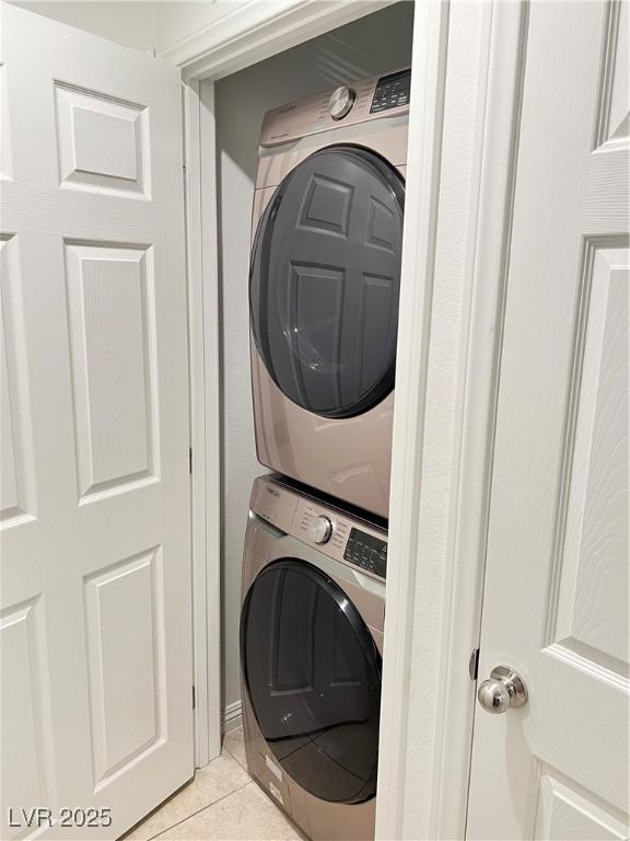
<svg viewBox="0 0 630 841">
<path fill-rule="evenodd" d="M 1 24 L 0 836 L 109 839 L 192 774 L 179 73 Z"/>
</svg>

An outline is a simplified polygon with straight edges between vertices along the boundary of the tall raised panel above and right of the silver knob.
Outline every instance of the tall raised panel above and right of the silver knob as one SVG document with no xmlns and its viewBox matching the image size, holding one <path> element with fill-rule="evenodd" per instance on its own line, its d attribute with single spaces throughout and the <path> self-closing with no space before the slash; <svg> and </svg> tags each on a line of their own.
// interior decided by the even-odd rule
<svg viewBox="0 0 630 841">
<path fill-rule="evenodd" d="M 555 645 L 628 675 L 628 249 L 586 255 L 588 318 Z"/>
</svg>

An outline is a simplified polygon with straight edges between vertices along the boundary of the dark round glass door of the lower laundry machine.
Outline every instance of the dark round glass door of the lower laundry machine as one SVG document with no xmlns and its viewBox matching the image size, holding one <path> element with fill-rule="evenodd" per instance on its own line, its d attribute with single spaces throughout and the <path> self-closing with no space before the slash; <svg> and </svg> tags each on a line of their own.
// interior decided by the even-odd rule
<svg viewBox="0 0 630 841">
<path fill-rule="evenodd" d="M 269 749 L 296 783 L 334 803 L 376 793 L 381 655 L 346 594 L 305 561 L 256 577 L 241 663 Z"/>
</svg>

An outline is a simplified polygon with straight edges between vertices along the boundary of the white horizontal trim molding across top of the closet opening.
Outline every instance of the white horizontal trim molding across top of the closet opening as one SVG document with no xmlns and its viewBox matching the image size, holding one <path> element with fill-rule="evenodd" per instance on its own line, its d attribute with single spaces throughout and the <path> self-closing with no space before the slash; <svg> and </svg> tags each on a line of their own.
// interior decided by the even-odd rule
<svg viewBox="0 0 630 841">
<path fill-rule="evenodd" d="M 395 0 L 245 0 L 159 56 L 190 79 L 219 79 Z"/>
</svg>

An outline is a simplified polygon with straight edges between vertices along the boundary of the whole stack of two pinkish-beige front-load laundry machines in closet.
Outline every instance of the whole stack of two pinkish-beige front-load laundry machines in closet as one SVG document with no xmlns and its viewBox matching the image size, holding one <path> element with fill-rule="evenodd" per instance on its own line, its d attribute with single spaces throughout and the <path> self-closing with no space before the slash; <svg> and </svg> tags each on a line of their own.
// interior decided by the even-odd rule
<svg viewBox="0 0 630 841">
<path fill-rule="evenodd" d="M 258 460 L 247 765 L 314 841 L 374 837 L 410 71 L 264 120 L 249 275 Z"/>
</svg>

